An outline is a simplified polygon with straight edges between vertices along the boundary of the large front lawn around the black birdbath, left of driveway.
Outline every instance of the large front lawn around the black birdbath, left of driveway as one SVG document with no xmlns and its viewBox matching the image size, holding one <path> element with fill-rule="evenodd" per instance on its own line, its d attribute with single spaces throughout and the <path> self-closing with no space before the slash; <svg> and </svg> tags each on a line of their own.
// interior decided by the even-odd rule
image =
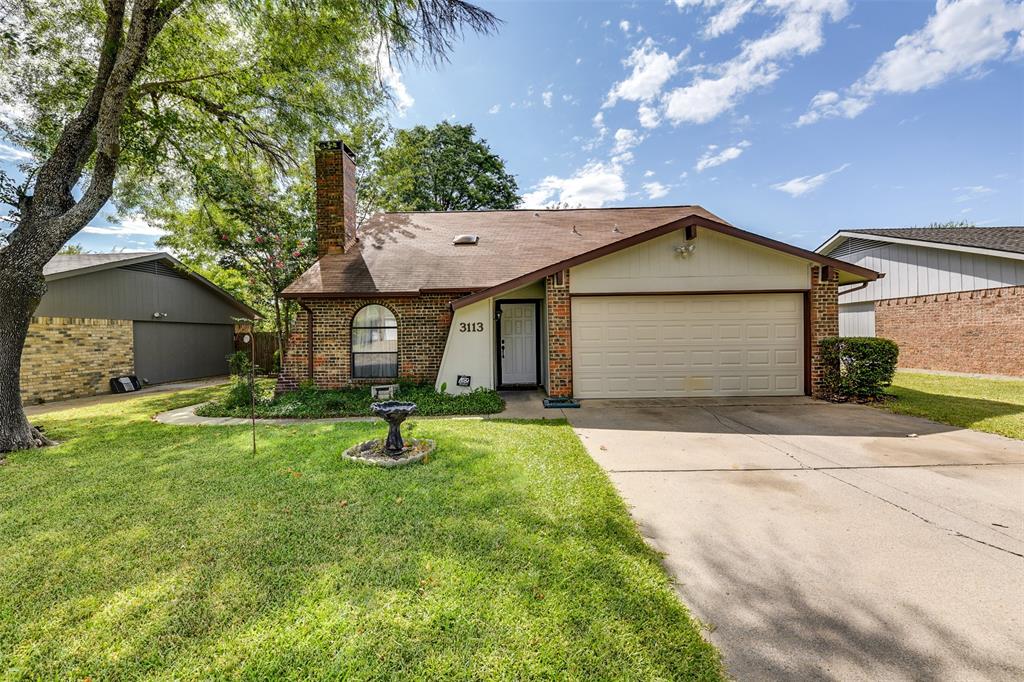
<svg viewBox="0 0 1024 682">
<path fill-rule="evenodd" d="M 722 679 L 564 422 L 169 426 L 211 390 L 39 417 L 0 467 L 0 677 Z"/>
</svg>

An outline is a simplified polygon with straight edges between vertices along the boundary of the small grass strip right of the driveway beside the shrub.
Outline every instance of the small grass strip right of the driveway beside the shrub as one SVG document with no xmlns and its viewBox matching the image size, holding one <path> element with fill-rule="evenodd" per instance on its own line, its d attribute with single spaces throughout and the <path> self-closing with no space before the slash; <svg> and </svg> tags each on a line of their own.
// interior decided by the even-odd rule
<svg viewBox="0 0 1024 682">
<path fill-rule="evenodd" d="M 888 393 L 886 410 L 1024 439 L 1024 380 L 897 372 Z"/>
</svg>

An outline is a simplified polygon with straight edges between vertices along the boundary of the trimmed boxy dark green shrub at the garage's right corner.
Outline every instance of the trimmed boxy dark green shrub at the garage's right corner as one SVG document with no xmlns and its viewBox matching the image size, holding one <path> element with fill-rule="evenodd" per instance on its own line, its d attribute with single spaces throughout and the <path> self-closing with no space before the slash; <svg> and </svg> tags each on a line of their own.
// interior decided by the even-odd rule
<svg viewBox="0 0 1024 682">
<path fill-rule="evenodd" d="M 899 346 L 873 337 L 828 337 L 821 340 L 824 390 L 834 400 L 877 400 L 892 384 Z"/>
</svg>

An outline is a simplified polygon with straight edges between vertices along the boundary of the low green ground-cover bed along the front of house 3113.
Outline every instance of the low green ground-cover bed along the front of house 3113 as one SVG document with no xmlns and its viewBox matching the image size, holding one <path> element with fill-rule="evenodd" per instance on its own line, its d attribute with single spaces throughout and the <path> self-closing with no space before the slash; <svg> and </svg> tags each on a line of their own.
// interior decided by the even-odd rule
<svg viewBox="0 0 1024 682">
<path fill-rule="evenodd" d="M 317 419 L 324 417 L 365 417 L 370 415 L 370 387 L 322 390 L 304 388 L 273 396 L 273 382 L 258 382 L 260 399 L 256 416 L 263 418 Z M 454 415 L 493 415 L 505 409 L 498 391 L 477 388 L 469 393 L 451 395 L 438 393 L 433 386 L 401 384 L 397 399 L 416 403 L 421 417 Z M 214 400 L 197 410 L 201 417 L 248 417 L 249 393 L 244 384 L 221 389 Z"/>
</svg>

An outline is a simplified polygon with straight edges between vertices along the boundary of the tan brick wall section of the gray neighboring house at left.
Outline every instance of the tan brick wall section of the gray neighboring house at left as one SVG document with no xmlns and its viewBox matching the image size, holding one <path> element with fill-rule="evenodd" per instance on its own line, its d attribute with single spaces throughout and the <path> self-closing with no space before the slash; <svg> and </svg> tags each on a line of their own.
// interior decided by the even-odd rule
<svg viewBox="0 0 1024 682">
<path fill-rule="evenodd" d="M 111 377 L 134 374 L 130 319 L 33 317 L 22 353 L 26 404 L 106 393 Z"/>
</svg>

